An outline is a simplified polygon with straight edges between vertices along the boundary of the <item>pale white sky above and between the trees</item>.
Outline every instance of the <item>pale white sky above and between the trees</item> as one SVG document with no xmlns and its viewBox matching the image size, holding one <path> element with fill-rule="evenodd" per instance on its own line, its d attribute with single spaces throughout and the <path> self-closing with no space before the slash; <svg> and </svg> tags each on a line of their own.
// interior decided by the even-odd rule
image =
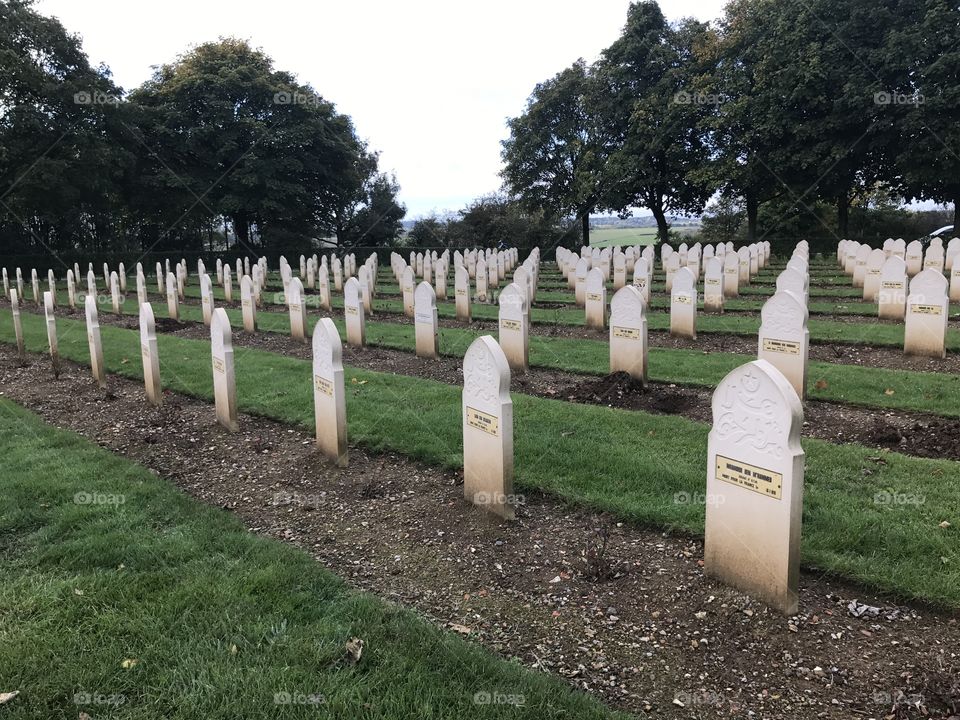
<svg viewBox="0 0 960 720">
<path fill-rule="evenodd" d="M 670 19 L 711 20 L 724 0 L 662 0 Z M 130 90 L 152 65 L 220 36 L 353 117 L 396 172 L 407 217 L 457 210 L 500 186 L 505 120 L 533 86 L 619 35 L 629 0 L 38 0 Z"/>
</svg>

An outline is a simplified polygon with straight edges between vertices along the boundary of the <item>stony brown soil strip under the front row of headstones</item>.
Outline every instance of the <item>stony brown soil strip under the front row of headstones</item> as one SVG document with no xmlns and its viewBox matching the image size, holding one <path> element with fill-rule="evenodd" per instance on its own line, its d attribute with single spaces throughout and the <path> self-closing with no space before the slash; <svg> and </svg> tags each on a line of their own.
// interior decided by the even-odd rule
<svg viewBox="0 0 960 720">
<path fill-rule="evenodd" d="M 539 495 L 502 525 L 464 503 L 457 474 L 359 447 L 334 468 L 299 429 L 242 416 L 231 435 L 209 404 L 168 393 L 153 408 L 138 383 L 111 377 L 105 394 L 87 368 L 65 363 L 54 380 L 44 359 L 30 362 L 18 367 L 0 346 L 0 391 L 48 422 L 611 705 L 801 720 L 946 718 L 960 707 L 955 616 L 804 572 L 800 612 L 784 618 L 706 578 L 698 540 Z"/>
</svg>

